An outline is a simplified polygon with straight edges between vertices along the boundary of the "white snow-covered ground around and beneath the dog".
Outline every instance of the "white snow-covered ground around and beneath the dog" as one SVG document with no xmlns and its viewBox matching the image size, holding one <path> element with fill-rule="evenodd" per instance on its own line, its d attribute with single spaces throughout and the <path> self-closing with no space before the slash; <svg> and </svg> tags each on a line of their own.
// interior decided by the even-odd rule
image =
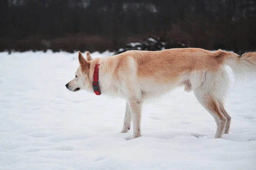
<svg viewBox="0 0 256 170">
<path fill-rule="evenodd" d="M 1 170 L 256 169 L 256 82 L 231 86 L 222 139 L 193 93 L 177 89 L 143 108 L 143 137 L 128 140 L 124 100 L 66 89 L 78 63 L 77 53 L 0 53 Z"/>
</svg>

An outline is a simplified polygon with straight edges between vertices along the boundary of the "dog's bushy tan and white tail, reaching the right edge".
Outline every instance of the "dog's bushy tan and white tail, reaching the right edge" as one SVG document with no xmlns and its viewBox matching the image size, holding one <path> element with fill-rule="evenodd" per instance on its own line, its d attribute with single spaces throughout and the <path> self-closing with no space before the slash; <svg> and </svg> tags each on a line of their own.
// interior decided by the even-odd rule
<svg viewBox="0 0 256 170">
<path fill-rule="evenodd" d="M 222 51 L 224 65 L 228 65 L 237 80 L 256 78 L 256 52 L 248 52 L 238 55 L 232 52 Z"/>
</svg>

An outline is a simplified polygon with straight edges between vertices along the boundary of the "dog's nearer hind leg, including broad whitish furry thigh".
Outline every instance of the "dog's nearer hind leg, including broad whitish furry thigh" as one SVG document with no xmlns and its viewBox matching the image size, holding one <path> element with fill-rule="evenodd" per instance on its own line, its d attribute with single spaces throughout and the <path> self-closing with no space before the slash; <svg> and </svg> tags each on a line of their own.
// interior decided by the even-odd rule
<svg viewBox="0 0 256 170">
<path fill-rule="evenodd" d="M 223 71 L 220 70 L 197 73 L 191 78 L 195 97 L 215 119 L 217 125 L 215 138 L 221 138 L 227 122 L 227 118 L 222 113 L 221 105 L 218 102 L 223 100 L 227 89 L 224 76 Z"/>
</svg>

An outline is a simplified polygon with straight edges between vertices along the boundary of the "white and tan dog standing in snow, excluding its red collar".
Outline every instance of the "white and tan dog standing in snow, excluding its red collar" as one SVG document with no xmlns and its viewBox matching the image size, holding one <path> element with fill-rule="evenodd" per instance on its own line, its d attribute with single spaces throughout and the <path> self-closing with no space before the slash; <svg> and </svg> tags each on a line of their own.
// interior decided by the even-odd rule
<svg viewBox="0 0 256 170">
<path fill-rule="evenodd" d="M 201 48 L 175 48 L 162 51 L 126 51 L 106 58 L 86 59 L 79 51 L 76 77 L 67 83 L 70 91 L 93 92 L 93 73 L 99 65 L 99 87 L 102 94 L 126 100 L 122 133 L 133 125 L 133 138 L 141 135 L 142 104 L 174 88 L 184 86 L 193 91 L 201 105 L 217 124 L 215 138 L 228 133 L 231 117 L 224 108 L 229 77 L 224 65 L 236 76 L 256 75 L 256 52 L 238 55 Z"/>
</svg>

